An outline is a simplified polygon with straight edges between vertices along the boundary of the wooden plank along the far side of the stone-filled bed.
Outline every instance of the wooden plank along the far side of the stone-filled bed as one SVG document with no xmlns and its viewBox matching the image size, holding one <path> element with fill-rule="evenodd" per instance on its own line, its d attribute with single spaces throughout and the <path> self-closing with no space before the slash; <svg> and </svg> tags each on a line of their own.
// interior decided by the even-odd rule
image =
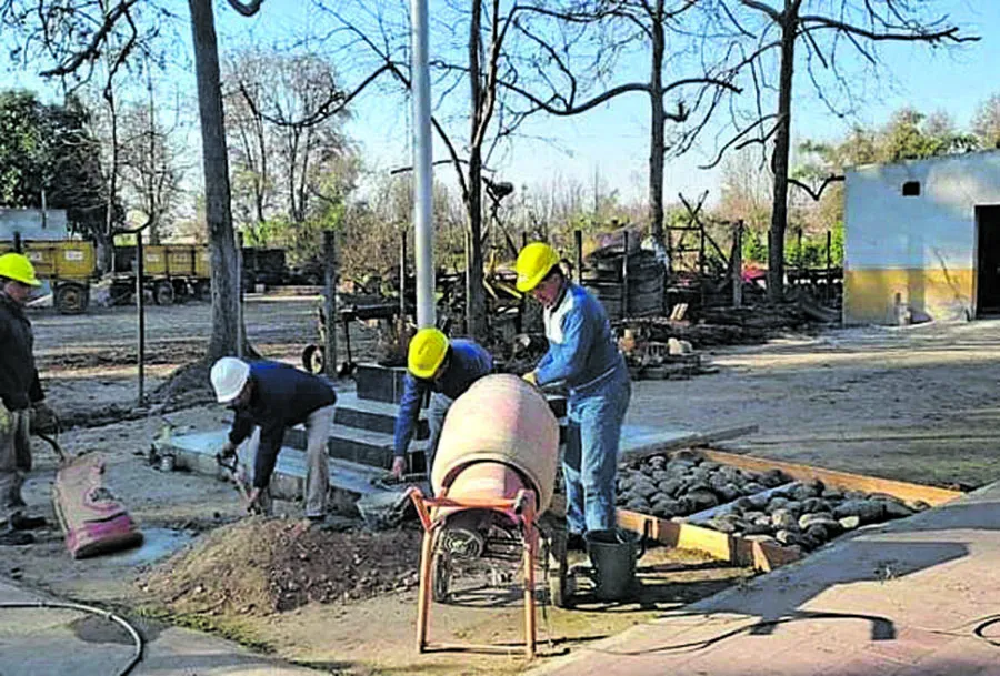
<svg viewBox="0 0 1000 676">
<path fill-rule="evenodd" d="M 863 491 L 866 493 L 886 493 L 887 495 L 892 495 L 903 501 L 922 500 L 931 506 L 951 502 L 956 497 L 962 495 L 959 491 L 949 491 L 947 488 L 938 488 L 934 486 L 922 486 L 920 484 L 911 484 L 890 478 L 878 478 L 876 476 L 864 476 L 861 474 L 850 474 L 848 472 L 838 472 L 836 470 L 823 470 L 811 465 L 799 465 L 771 458 L 753 457 L 752 455 L 739 455 L 710 448 L 703 448 L 700 452 L 711 461 L 740 467 L 741 470 L 750 470 L 753 472 L 781 470 L 792 478 L 799 481 L 812 481 L 818 478 L 828 486 L 836 486 L 848 491 Z"/>
</svg>

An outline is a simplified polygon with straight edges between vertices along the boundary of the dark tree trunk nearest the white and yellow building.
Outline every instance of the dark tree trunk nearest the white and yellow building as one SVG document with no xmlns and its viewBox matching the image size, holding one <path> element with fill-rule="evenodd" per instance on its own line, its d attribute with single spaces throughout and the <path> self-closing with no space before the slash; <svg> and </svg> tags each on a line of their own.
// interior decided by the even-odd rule
<svg viewBox="0 0 1000 676">
<path fill-rule="evenodd" d="M 778 92 L 778 130 L 771 170 L 774 191 L 771 202 L 770 248 L 768 250 L 768 299 L 784 297 L 784 229 L 788 224 L 788 161 L 791 147 L 791 93 L 796 64 L 796 31 L 799 23 L 799 1 L 788 3 L 781 14 L 781 74 Z"/>
</svg>

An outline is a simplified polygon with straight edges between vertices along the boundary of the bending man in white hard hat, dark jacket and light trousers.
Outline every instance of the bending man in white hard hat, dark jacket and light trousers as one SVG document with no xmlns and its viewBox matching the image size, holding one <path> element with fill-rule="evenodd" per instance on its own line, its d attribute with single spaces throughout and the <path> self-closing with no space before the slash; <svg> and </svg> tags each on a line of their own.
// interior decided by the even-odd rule
<svg viewBox="0 0 1000 676">
<path fill-rule="evenodd" d="M 261 360 L 247 363 L 223 356 L 212 366 L 212 387 L 219 402 L 236 411 L 223 456 L 244 441 L 252 463 L 251 508 L 270 512 L 268 485 L 288 427 L 306 424 L 306 516 L 322 522 L 327 514 L 330 471 L 327 442 L 333 425 L 337 394 L 330 384 L 288 364 Z"/>
</svg>

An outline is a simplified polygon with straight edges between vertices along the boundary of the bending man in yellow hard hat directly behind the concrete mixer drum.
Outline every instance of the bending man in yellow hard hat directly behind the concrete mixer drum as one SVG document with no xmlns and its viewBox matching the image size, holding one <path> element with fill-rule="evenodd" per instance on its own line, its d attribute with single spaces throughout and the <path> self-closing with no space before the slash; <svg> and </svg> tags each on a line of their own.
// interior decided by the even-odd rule
<svg viewBox="0 0 1000 676">
<path fill-rule="evenodd" d="M 431 393 L 427 411 L 430 437 L 424 453 L 429 478 L 444 415 L 456 398 L 492 370 L 493 357 L 473 341 L 449 340 L 437 329 L 421 329 L 417 332 L 410 340 L 403 394 L 396 416 L 392 474 L 401 478 L 407 470 L 407 451 L 417 430 L 420 406 L 427 393 Z"/>
</svg>

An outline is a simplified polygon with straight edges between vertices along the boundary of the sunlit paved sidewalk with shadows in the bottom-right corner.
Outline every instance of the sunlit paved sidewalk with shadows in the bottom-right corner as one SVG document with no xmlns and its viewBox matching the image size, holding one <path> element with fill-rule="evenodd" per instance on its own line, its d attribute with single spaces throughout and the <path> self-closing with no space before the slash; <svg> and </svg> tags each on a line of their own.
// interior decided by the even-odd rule
<svg viewBox="0 0 1000 676">
<path fill-rule="evenodd" d="M 1000 675 L 998 531 L 993 484 L 530 674 Z"/>
</svg>

